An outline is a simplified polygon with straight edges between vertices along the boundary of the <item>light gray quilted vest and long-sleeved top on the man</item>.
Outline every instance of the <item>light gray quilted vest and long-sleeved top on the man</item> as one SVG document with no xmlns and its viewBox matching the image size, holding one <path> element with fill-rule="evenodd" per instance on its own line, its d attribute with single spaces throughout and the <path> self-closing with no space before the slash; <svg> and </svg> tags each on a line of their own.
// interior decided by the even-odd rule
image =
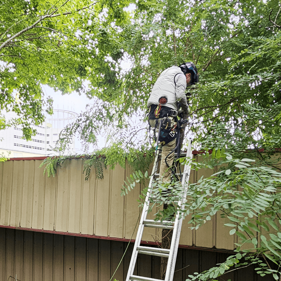
<svg viewBox="0 0 281 281">
<path fill-rule="evenodd" d="M 147 107 L 152 104 L 158 105 L 161 97 L 165 97 L 168 101 L 164 106 L 168 106 L 177 110 L 177 101 L 183 111 L 188 112 L 187 100 L 185 96 L 186 77 L 177 66 L 164 70 L 156 80 L 150 97 L 147 101 Z"/>
</svg>

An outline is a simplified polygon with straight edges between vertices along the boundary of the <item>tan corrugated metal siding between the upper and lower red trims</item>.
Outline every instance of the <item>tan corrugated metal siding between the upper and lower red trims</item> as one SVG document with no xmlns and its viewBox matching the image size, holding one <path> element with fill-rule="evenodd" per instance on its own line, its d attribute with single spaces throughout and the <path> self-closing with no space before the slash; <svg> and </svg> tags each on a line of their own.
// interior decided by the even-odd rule
<svg viewBox="0 0 281 281">
<path fill-rule="evenodd" d="M 200 156 L 195 156 L 200 157 Z M 130 239 L 137 223 L 137 199 L 142 186 L 121 197 L 121 187 L 132 170 L 117 165 L 104 170 L 104 179 L 91 173 L 84 180 L 83 160 L 66 160 L 55 177 L 43 176 L 42 160 L 0 162 L 0 226 Z M 192 171 L 190 182 L 215 170 Z M 220 216 L 192 231 L 183 221 L 180 244 L 233 250 L 236 242 Z M 133 235 L 135 238 L 136 232 Z M 155 241 L 160 230 L 149 228 L 143 239 Z"/>
</svg>

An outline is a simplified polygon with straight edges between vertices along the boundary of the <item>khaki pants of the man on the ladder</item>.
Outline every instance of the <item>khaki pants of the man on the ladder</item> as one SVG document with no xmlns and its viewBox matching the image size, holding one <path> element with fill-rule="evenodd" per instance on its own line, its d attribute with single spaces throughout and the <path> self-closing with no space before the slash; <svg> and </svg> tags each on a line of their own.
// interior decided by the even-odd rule
<svg viewBox="0 0 281 281">
<path fill-rule="evenodd" d="M 169 116 L 168 118 L 171 120 L 171 126 L 176 124 L 173 117 Z M 156 120 L 152 120 L 152 119 L 149 120 L 149 124 L 152 128 L 155 127 L 155 122 Z M 158 121 L 158 123 L 160 123 L 160 120 Z M 165 162 L 165 158 L 173 149 L 175 149 L 176 140 L 177 139 L 174 139 L 169 143 L 165 144 L 164 146 L 162 146 L 162 156 L 161 156 L 160 171 L 159 171 L 160 180 L 162 180 L 162 182 L 168 182 L 171 180 L 172 171 L 169 167 L 172 167 L 173 165 L 175 153 L 174 152 L 171 153 L 167 158 L 167 164 L 169 166 L 167 166 Z"/>
</svg>

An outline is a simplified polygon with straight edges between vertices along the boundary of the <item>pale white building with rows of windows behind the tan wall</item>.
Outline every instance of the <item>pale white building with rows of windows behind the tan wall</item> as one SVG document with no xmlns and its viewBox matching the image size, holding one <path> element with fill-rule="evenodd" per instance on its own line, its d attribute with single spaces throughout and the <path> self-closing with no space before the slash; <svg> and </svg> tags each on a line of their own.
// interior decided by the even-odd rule
<svg viewBox="0 0 281 281">
<path fill-rule="evenodd" d="M 32 125 L 37 134 L 32 140 L 22 138 L 22 129 L 9 127 L 0 131 L 0 153 L 4 152 L 8 157 L 35 157 L 53 155 L 53 148 L 59 139 L 59 133 L 77 117 L 77 113 L 64 109 L 54 109 L 53 115 L 47 115 L 41 126 Z M 7 113 L 6 118 L 12 118 L 13 112 Z M 11 152 L 9 154 L 9 152 Z M 67 151 L 68 154 L 76 152 L 75 139 Z"/>
</svg>

